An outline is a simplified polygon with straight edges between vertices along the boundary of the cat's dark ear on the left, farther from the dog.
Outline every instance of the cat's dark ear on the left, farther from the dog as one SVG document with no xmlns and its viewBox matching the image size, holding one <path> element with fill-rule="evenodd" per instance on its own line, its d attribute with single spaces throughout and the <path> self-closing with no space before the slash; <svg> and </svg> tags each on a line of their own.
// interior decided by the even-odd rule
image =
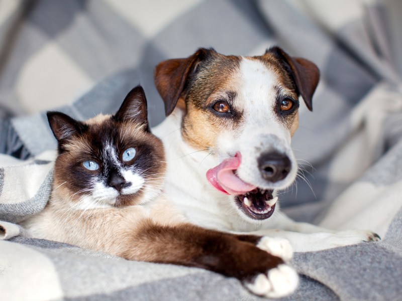
<svg viewBox="0 0 402 301">
<path fill-rule="evenodd" d="M 69 140 L 72 136 L 81 134 L 87 125 L 71 118 L 70 116 L 55 111 L 47 112 L 50 128 L 57 141 Z"/>
</svg>

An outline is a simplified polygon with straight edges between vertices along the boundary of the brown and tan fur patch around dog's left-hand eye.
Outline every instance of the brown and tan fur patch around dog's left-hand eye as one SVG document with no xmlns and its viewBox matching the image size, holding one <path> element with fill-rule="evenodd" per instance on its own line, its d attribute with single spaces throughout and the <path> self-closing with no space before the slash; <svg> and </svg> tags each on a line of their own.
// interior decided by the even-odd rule
<svg viewBox="0 0 402 301">
<path fill-rule="evenodd" d="M 239 57 L 212 52 L 198 63 L 196 74 L 187 79 L 183 91 L 187 113 L 182 122 L 182 136 L 193 147 L 212 147 L 220 131 L 240 121 L 240 118 L 222 118 L 213 113 L 213 105 L 218 100 L 233 103 L 236 88 L 233 76 L 239 67 Z"/>
</svg>

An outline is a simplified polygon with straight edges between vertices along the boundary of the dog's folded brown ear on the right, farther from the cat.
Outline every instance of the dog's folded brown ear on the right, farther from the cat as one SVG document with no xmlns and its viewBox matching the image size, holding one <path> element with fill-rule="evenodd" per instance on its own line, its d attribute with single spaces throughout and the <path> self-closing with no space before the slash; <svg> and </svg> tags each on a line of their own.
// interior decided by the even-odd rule
<svg viewBox="0 0 402 301">
<path fill-rule="evenodd" d="M 265 54 L 267 53 L 272 53 L 287 63 L 299 94 L 302 95 L 307 107 L 312 111 L 312 97 L 320 79 L 318 67 L 304 58 L 292 58 L 279 47 L 272 47 L 265 52 Z"/>
</svg>

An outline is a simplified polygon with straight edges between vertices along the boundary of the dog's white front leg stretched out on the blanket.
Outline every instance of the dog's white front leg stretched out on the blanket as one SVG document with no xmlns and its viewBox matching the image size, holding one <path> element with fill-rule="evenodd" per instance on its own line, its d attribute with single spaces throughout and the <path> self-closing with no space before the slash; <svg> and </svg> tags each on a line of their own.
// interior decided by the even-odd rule
<svg viewBox="0 0 402 301">
<path fill-rule="evenodd" d="M 335 231 L 309 223 L 295 222 L 285 215 L 277 216 L 275 224 L 271 227 L 270 229 L 260 229 L 254 234 L 285 238 L 289 240 L 295 252 L 321 251 L 380 239 L 371 231 Z"/>
</svg>

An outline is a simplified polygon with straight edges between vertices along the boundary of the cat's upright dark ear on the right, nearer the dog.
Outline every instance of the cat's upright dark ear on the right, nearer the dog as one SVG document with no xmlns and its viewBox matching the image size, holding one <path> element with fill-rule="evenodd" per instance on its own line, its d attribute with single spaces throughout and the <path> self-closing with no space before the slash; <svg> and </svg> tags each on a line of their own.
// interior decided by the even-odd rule
<svg viewBox="0 0 402 301">
<path fill-rule="evenodd" d="M 114 118 L 119 121 L 133 120 L 144 124 L 149 131 L 147 99 L 141 86 L 133 88 L 127 94 Z"/>
</svg>

